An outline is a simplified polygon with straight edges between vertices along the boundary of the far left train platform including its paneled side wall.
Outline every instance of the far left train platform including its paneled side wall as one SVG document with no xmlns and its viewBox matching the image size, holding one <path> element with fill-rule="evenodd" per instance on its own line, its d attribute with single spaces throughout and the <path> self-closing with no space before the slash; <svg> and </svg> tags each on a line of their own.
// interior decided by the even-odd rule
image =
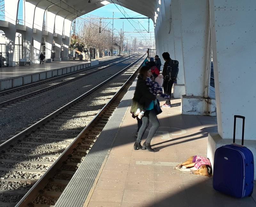
<svg viewBox="0 0 256 207">
<path fill-rule="evenodd" d="M 44 64 L 3 67 L 0 68 L 0 91 L 71 73 L 118 57 L 120 56 L 106 56 L 93 61 L 53 61 L 44 62 Z"/>
</svg>

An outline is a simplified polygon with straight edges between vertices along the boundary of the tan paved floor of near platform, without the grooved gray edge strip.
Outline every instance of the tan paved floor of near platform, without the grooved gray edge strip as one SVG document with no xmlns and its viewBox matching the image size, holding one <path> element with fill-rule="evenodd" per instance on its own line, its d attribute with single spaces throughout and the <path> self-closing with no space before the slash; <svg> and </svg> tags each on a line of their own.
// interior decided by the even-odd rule
<svg viewBox="0 0 256 207">
<path fill-rule="evenodd" d="M 127 110 L 84 207 L 256 206 L 255 191 L 252 197 L 232 198 L 215 191 L 212 178 L 173 169 L 189 156 L 206 156 L 208 132 L 217 132 L 216 117 L 181 115 L 180 103 L 180 99 L 172 100 L 172 107 L 158 115 L 161 127 L 151 142 L 156 152 L 133 150 L 137 121 Z"/>
</svg>

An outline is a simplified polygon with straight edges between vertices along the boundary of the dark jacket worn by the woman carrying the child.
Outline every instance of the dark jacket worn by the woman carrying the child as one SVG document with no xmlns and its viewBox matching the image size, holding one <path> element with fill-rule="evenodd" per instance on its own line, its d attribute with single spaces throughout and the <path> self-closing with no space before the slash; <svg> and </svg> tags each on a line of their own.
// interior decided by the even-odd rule
<svg viewBox="0 0 256 207">
<path fill-rule="evenodd" d="M 156 96 L 149 92 L 146 81 L 144 81 L 139 74 L 134 96 L 132 98 L 131 113 L 135 113 L 138 108 L 144 110 L 145 107 L 148 107 L 150 102 L 154 100 L 156 100 Z"/>
</svg>

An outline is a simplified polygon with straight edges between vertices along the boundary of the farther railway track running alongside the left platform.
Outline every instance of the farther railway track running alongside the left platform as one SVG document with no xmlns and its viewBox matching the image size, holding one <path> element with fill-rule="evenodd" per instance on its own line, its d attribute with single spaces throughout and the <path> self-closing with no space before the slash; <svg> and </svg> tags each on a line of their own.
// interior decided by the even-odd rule
<svg viewBox="0 0 256 207">
<path fill-rule="evenodd" d="M 61 85 L 70 83 L 72 81 L 76 81 L 92 73 L 99 72 L 108 67 L 124 62 L 125 60 L 135 57 L 136 55 L 137 54 L 131 57 L 124 57 L 118 60 L 110 61 L 108 63 L 96 65 L 73 73 L 68 73 L 62 76 L 54 77 L 45 81 L 39 81 L 22 87 L 13 88 L 10 90 L 0 92 L 0 107 L 13 104 L 17 101 L 28 98 L 30 96 L 34 96 L 36 94 L 40 94 L 50 89 L 57 88 Z"/>
</svg>

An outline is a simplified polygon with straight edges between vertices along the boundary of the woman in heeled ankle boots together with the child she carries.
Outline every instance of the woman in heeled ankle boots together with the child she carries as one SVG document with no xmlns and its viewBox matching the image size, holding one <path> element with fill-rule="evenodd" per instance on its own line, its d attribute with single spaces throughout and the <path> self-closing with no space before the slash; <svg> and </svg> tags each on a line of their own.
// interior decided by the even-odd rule
<svg viewBox="0 0 256 207">
<path fill-rule="evenodd" d="M 138 115 L 139 118 L 142 117 L 142 126 L 140 127 L 137 140 L 134 143 L 134 150 L 147 149 L 153 152 L 154 149 L 151 148 L 150 142 L 156 133 L 156 130 L 160 126 L 156 116 L 156 111 L 154 110 L 154 106 L 156 104 L 156 95 L 160 94 L 164 98 L 166 95 L 161 93 L 162 88 L 157 82 L 150 80 L 151 75 L 152 73 L 149 67 L 141 67 L 132 99 L 131 113 L 135 116 Z M 147 129 L 149 122 L 152 123 L 152 127 L 149 130 L 146 141 L 143 143 L 143 146 L 141 146 L 140 142 L 142 139 L 142 134 L 144 134 L 145 130 Z"/>
</svg>

